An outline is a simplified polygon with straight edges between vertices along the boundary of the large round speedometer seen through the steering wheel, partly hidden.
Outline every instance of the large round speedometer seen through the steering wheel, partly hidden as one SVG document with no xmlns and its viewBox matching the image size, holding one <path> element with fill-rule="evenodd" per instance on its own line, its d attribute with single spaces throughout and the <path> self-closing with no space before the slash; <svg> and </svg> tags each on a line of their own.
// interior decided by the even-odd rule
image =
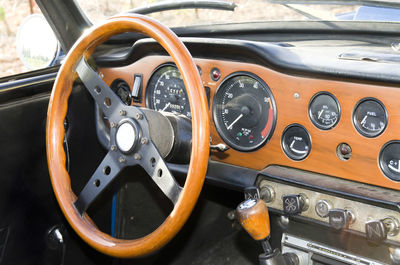
<svg viewBox="0 0 400 265">
<path fill-rule="evenodd" d="M 177 112 L 191 118 L 185 84 L 176 66 L 164 64 L 158 67 L 150 77 L 146 93 L 149 108 Z"/>
</svg>

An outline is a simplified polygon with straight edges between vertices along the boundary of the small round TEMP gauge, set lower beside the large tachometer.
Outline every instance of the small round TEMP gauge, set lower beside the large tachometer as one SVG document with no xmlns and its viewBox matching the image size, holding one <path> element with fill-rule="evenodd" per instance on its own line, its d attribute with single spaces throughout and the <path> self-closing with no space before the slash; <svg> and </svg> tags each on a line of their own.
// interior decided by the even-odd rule
<svg viewBox="0 0 400 265">
<path fill-rule="evenodd" d="M 311 151 L 311 138 L 306 128 L 300 124 L 289 125 L 282 135 L 285 154 L 293 160 L 303 160 Z"/>
</svg>

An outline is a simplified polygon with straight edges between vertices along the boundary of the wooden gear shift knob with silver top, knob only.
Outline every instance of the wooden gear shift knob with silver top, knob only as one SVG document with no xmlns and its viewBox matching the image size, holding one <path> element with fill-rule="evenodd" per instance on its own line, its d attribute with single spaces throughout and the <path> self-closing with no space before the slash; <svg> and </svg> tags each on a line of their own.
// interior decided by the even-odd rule
<svg viewBox="0 0 400 265">
<path fill-rule="evenodd" d="M 236 208 L 242 227 L 254 240 L 264 240 L 271 232 L 268 208 L 263 200 L 248 199 Z"/>
</svg>

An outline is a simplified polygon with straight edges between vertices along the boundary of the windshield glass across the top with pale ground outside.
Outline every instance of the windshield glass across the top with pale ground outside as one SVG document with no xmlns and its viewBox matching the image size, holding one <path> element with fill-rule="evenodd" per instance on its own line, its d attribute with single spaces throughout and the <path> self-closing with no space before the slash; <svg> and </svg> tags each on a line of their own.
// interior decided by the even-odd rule
<svg viewBox="0 0 400 265">
<path fill-rule="evenodd" d="M 389 0 L 390 1 L 390 0 Z M 157 0 L 78 0 L 81 8 L 93 23 L 106 17 L 134 8 L 160 4 Z M 173 1 L 169 1 L 173 2 Z M 255 22 L 255 21 L 400 21 L 400 9 L 394 8 L 393 2 L 370 0 L 351 1 L 304 0 L 313 4 L 294 4 L 296 1 L 285 0 L 233 0 L 234 11 L 212 9 L 180 9 L 149 14 L 169 27 L 190 25 L 208 25 L 221 23 Z M 334 4 L 330 4 L 334 3 Z M 399 3 L 400 8 L 400 3 Z"/>
</svg>

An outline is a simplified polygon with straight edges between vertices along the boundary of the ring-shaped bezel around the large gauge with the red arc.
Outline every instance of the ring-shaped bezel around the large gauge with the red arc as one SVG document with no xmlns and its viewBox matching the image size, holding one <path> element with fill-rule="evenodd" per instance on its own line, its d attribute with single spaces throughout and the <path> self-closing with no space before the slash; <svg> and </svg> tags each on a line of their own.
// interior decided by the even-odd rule
<svg viewBox="0 0 400 265">
<path fill-rule="evenodd" d="M 273 120 L 272 120 L 272 125 L 271 125 L 271 130 L 269 131 L 269 134 L 267 135 L 267 137 L 265 137 L 263 139 L 263 141 L 261 141 L 260 143 L 258 143 L 255 146 L 250 146 L 250 147 L 244 147 L 244 146 L 240 146 L 234 142 L 232 142 L 228 136 L 225 135 L 225 133 L 222 131 L 221 124 L 218 121 L 217 118 L 217 106 L 215 104 L 215 98 L 217 97 L 218 93 L 221 93 L 221 88 L 224 86 L 224 84 L 230 80 L 231 78 L 234 78 L 236 76 L 248 76 L 250 78 L 253 78 L 255 80 L 257 80 L 259 83 L 261 83 L 261 85 L 263 85 L 266 89 L 266 91 L 269 93 L 270 96 L 270 102 L 272 104 L 272 115 L 273 115 Z M 212 115 L 213 115 L 213 121 L 214 121 L 214 125 L 215 128 L 217 129 L 217 132 L 219 134 L 219 136 L 222 138 L 222 140 L 224 140 L 225 143 L 227 143 L 230 147 L 232 147 L 233 149 L 237 150 L 237 151 L 241 151 L 241 152 L 252 152 L 252 151 L 256 151 L 259 148 L 261 148 L 262 146 L 264 146 L 269 139 L 271 139 L 274 131 L 275 131 L 275 126 L 276 126 L 276 117 L 277 117 L 277 109 L 276 109 L 276 104 L 275 104 L 275 98 L 274 95 L 272 94 L 271 89 L 269 88 L 269 86 L 267 85 L 267 83 L 261 79 L 260 77 L 258 77 L 257 75 L 250 73 L 250 72 L 246 72 L 246 71 L 239 71 L 239 72 L 234 72 L 231 73 L 230 75 L 226 76 L 221 83 L 218 85 L 217 90 L 214 93 L 214 96 L 212 98 Z"/>
</svg>

